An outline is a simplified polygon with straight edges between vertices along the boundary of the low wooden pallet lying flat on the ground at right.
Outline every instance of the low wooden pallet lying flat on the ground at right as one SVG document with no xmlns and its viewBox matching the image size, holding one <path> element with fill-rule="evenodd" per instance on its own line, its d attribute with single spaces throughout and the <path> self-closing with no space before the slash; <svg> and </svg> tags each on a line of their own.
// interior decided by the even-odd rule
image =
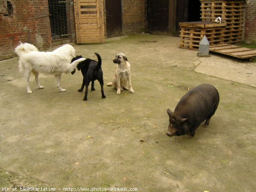
<svg viewBox="0 0 256 192">
<path fill-rule="evenodd" d="M 211 46 L 209 48 L 210 52 L 218 52 L 224 55 L 230 55 L 236 58 L 252 58 L 256 57 L 256 49 L 249 49 L 245 47 L 239 47 L 231 44 L 221 44 Z"/>
</svg>

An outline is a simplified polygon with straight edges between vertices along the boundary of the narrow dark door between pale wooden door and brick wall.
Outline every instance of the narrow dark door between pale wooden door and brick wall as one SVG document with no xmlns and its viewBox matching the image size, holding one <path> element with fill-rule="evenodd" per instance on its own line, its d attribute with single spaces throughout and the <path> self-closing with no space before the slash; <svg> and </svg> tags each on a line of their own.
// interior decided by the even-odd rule
<svg viewBox="0 0 256 192">
<path fill-rule="evenodd" d="M 107 37 L 122 35 L 122 0 L 105 0 Z"/>
</svg>

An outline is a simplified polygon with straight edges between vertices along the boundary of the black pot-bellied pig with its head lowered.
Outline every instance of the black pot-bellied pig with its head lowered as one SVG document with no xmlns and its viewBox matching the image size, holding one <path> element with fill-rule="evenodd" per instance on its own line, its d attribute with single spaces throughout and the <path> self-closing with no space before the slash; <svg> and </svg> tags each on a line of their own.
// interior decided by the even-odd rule
<svg viewBox="0 0 256 192">
<path fill-rule="evenodd" d="M 173 113 L 167 109 L 170 124 L 166 134 L 169 137 L 184 134 L 193 137 L 195 129 L 204 120 L 204 127 L 208 127 L 219 100 L 218 90 L 210 84 L 200 84 L 193 88 L 180 99 Z"/>
</svg>

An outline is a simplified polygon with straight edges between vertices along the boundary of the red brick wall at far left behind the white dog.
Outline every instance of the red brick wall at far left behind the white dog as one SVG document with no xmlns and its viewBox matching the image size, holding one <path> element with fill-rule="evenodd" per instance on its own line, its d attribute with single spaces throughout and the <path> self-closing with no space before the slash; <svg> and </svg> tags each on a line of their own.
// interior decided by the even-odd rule
<svg viewBox="0 0 256 192">
<path fill-rule="evenodd" d="M 9 0 L 13 13 L 0 14 L 0 61 L 15 57 L 15 47 L 20 42 L 47 49 L 51 44 L 48 0 Z"/>
</svg>

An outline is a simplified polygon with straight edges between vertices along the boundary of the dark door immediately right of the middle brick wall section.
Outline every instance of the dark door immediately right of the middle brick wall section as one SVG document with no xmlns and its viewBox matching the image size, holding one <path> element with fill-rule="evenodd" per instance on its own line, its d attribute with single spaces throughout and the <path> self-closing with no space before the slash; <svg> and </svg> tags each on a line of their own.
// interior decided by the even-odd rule
<svg viewBox="0 0 256 192">
<path fill-rule="evenodd" d="M 169 21 L 169 0 L 146 0 L 146 32 L 166 34 Z"/>
</svg>

